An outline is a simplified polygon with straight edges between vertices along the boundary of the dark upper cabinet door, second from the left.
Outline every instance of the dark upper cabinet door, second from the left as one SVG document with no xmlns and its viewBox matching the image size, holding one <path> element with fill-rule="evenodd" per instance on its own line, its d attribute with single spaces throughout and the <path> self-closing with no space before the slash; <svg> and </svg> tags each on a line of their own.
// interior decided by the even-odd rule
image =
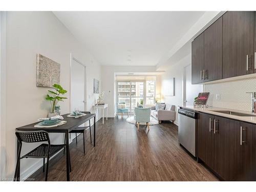
<svg viewBox="0 0 256 192">
<path fill-rule="evenodd" d="M 204 82 L 222 79 L 222 17 L 204 31 Z"/>
</svg>

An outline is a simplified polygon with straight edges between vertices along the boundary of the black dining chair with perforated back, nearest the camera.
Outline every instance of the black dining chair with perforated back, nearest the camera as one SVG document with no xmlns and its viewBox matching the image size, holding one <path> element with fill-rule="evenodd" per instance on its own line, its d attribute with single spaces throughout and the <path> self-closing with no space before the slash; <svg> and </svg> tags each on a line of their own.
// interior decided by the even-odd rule
<svg viewBox="0 0 256 192">
<path fill-rule="evenodd" d="M 45 172 L 45 158 L 47 158 L 47 164 L 46 164 L 46 178 L 45 181 L 47 181 L 48 177 L 48 166 L 49 166 L 49 159 L 52 157 L 54 154 L 57 152 L 61 151 L 62 148 L 65 147 L 65 144 L 58 144 L 58 145 L 53 145 L 50 143 L 50 138 L 49 135 L 46 131 L 33 131 L 33 132 L 23 132 L 23 131 L 16 131 L 16 136 L 19 142 L 19 148 L 18 150 L 18 155 L 17 155 L 17 163 L 16 163 L 16 168 L 15 168 L 15 174 L 14 174 L 14 179 L 13 181 L 17 181 L 17 173 L 18 173 L 18 167 L 19 167 L 19 162 L 20 159 L 23 158 L 43 158 L 43 172 Z M 34 150 L 30 151 L 26 155 L 20 157 L 20 152 L 22 151 L 22 142 L 25 143 L 36 143 L 36 142 L 48 142 L 47 143 L 42 143 Z M 70 159 L 69 159 L 70 161 Z"/>
</svg>

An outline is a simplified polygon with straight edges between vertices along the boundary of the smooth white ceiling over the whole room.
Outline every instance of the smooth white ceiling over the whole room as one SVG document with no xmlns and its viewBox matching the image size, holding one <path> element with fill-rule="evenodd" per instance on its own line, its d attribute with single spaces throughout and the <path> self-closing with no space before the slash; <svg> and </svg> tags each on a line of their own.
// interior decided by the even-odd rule
<svg viewBox="0 0 256 192">
<path fill-rule="evenodd" d="M 101 65 L 155 66 L 204 14 L 168 12 L 54 12 Z"/>
</svg>

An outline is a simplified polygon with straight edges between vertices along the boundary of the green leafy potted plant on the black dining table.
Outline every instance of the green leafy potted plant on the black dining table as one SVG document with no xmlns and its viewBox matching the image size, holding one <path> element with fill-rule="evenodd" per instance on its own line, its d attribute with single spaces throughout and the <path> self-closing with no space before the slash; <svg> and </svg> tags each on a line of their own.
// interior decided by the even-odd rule
<svg viewBox="0 0 256 192">
<path fill-rule="evenodd" d="M 55 88 L 55 91 L 50 91 L 48 90 L 48 92 L 50 92 L 50 94 L 52 94 L 52 96 L 50 95 L 46 95 L 46 100 L 50 101 L 51 103 L 51 113 L 48 114 L 48 117 L 53 117 L 56 114 L 54 113 L 54 109 L 55 106 L 57 105 L 57 103 L 59 101 L 63 101 L 63 99 L 67 99 L 67 97 L 60 97 L 59 95 L 64 95 L 65 93 L 67 93 L 66 90 L 64 90 L 59 84 L 54 84 L 53 88 Z"/>
</svg>

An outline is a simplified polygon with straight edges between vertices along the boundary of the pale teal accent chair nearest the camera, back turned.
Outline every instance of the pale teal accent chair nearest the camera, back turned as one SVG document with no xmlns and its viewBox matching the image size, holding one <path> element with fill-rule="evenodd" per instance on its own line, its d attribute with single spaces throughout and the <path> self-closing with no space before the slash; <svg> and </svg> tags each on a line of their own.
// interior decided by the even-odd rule
<svg viewBox="0 0 256 192">
<path fill-rule="evenodd" d="M 135 112 L 134 119 L 136 121 L 135 124 L 137 126 L 137 129 L 139 130 L 140 123 L 145 122 L 147 129 L 150 130 L 149 122 L 150 122 L 151 108 L 135 108 L 134 112 Z"/>
</svg>

